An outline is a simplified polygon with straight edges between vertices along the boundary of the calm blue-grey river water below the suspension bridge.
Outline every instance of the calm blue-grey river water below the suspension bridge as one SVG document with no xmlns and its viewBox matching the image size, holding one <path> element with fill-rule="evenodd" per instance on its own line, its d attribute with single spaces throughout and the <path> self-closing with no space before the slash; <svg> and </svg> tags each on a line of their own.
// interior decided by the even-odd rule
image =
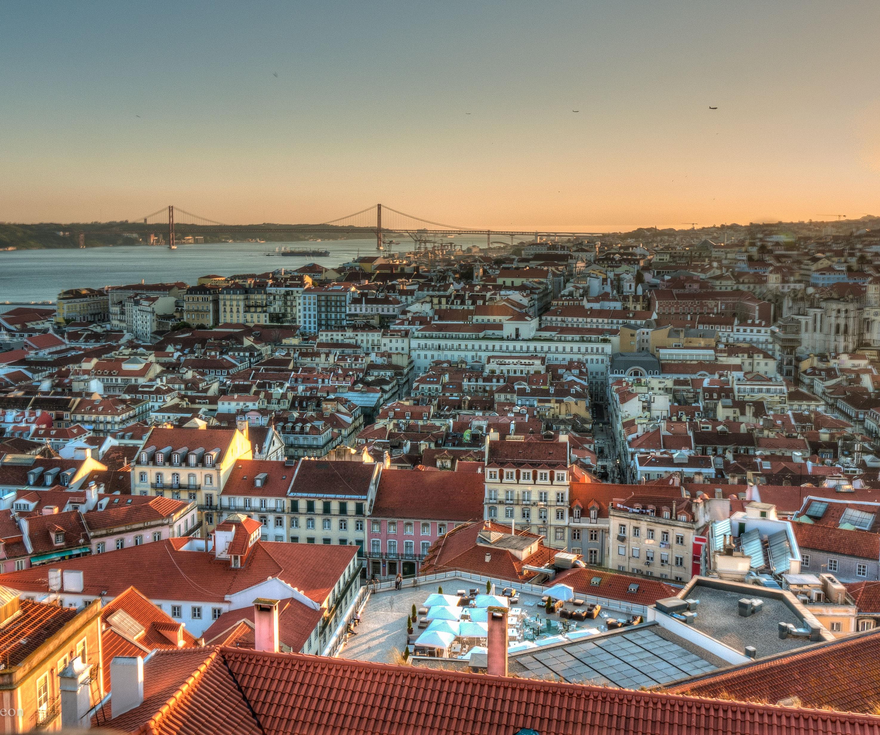
<svg viewBox="0 0 880 735">
<path fill-rule="evenodd" d="M 462 245 L 482 244 L 480 238 L 456 238 Z M 326 258 L 299 256 L 266 257 L 275 247 L 326 248 Z M 408 241 L 392 249 L 407 250 Z M 317 262 L 333 268 L 361 255 L 376 254 L 376 240 L 334 240 L 291 243 L 211 243 L 167 247 L 116 246 L 89 247 L 84 250 L 20 250 L 0 253 L 0 312 L 13 308 L 4 301 L 55 301 L 58 292 L 80 286 L 99 288 L 137 283 L 183 281 L 196 283 L 199 276 L 216 273 L 265 273 L 278 268 L 299 268 Z"/>
</svg>

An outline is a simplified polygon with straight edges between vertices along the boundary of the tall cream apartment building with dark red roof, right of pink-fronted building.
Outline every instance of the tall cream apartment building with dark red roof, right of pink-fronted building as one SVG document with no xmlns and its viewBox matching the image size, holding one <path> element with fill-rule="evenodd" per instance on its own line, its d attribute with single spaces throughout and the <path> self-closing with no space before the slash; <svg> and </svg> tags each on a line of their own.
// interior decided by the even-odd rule
<svg viewBox="0 0 880 735">
<path fill-rule="evenodd" d="M 550 548 L 567 548 L 568 435 L 546 432 L 538 440 L 502 440 L 490 431 L 485 461 L 483 518 L 537 533 Z"/>
</svg>

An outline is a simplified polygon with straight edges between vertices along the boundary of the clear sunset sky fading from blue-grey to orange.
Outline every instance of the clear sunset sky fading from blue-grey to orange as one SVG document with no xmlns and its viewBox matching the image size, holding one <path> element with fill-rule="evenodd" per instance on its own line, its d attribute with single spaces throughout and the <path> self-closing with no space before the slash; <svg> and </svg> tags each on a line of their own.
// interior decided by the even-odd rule
<svg viewBox="0 0 880 735">
<path fill-rule="evenodd" d="M 880 214 L 877 27 L 876 0 L 6 0 L 0 221 Z"/>
</svg>

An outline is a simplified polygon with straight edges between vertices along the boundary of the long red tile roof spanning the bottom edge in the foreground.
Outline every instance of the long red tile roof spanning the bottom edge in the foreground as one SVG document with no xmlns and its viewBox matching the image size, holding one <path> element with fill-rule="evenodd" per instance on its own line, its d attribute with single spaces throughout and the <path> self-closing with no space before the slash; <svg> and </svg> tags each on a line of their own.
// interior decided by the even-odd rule
<svg viewBox="0 0 880 735">
<path fill-rule="evenodd" d="M 107 725 L 165 733 L 514 735 L 880 732 L 880 718 L 303 654 L 160 651 L 144 701 Z"/>
</svg>

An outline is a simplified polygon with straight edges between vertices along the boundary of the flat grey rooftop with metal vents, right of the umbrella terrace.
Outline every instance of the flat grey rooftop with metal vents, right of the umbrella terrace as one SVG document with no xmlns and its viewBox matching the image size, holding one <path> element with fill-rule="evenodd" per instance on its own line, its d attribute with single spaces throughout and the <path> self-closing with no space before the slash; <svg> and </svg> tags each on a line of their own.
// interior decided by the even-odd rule
<svg viewBox="0 0 880 735">
<path fill-rule="evenodd" d="M 750 586 L 744 592 L 741 589 L 719 590 L 695 584 L 687 593 L 689 598 L 700 600 L 693 628 L 740 653 L 744 652 L 746 646 L 754 646 L 758 650 L 758 658 L 809 645 L 809 638 L 780 639 L 780 622 L 790 622 L 796 628 L 802 628 L 803 619 L 781 599 L 762 592 L 765 592 L 764 589 L 757 585 Z M 742 598 L 764 600 L 763 609 L 750 617 L 741 617 L 738 609 Z"/>
</svg>

